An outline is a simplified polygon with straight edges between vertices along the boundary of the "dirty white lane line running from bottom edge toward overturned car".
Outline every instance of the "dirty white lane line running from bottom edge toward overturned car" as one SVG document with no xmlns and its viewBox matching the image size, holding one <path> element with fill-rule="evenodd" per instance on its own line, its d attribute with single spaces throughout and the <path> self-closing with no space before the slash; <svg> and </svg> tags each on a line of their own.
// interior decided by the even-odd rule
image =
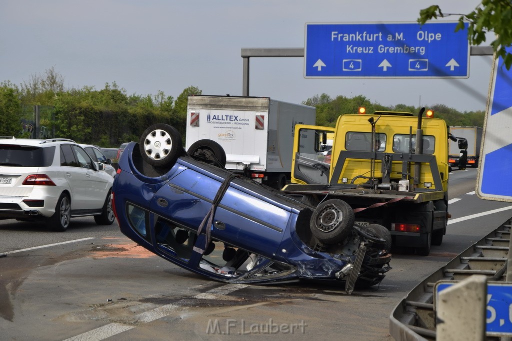
<svg viewBox="0 0 512 341">
<path fill-rule="evenodd" d="M 226 284 L 221 287 L 208 290 L 203 293 L 198 293 L 197 295 L 193 296 L 194 299 L 210 299 L 211 297 L 216 298 L 216 295 L 227 295 L 230 292 L 243 289 L 247 287 L 247 284 Z M 145 311 L 141 314 L 138 314 L 136 317 L 136 320 L 139 323 L 148 323 L 152 322 L 158 319 L 161 319 L 162 317 L 165 317 L 174 311 L 176 311 L 178 308 L 183 309 L 183 306 L 180 305 L 180 303 L 184 304 L 189 302 L 190 299 L 183 299 L 176 303 L 166 304 L 160 307 L 157 307 L 155 309 Z M 123 328 L 124 327 L 124 328 Z M 126 330 L 130 330 L 132 328 L 135 328 L 136 326 L 129 326 L 129 325 L 123 325 L 120 323 L 111 323 L 103 327 L 99 327 L 93 330 L 90 330 L 88 332 L 67 338 L 64 341 L 100 341 L 107 337 L 122 333 Z"/>
</svg>

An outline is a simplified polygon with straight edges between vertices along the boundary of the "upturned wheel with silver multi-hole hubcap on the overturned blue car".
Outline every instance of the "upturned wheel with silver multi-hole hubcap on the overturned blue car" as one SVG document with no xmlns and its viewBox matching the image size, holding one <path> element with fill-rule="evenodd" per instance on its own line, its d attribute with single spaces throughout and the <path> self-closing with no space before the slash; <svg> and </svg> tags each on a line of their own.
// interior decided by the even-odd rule
<svg viewBox="0 0 512 341">
<path fill-rule="evenodd" d="M 142 159 L 154 167 L 174 165 L 183 150 L 181 135 L 175 127 L 157 123 L 148 127 L 139 140 Z"/>
</svg>

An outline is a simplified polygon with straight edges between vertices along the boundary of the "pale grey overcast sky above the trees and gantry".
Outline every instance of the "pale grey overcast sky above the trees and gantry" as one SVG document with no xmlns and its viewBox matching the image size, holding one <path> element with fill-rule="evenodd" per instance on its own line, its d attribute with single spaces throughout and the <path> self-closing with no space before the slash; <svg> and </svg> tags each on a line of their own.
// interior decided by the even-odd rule
<svg viewBox="0 0 512 341">
<path fill-rule="evenodd" d="M 304 48 L 306 22 L 416 21 L 420 9 L 439 3 L 465 14 L 480 2 L 1 0 L 0 81 L 19 85 L 53 66 L 66 87 L 116 82 L 129 95 L 162 90 L 176 98 L 193 85 L 204 95 L 240 96 L 242 48 Z M 484 110 L 491 66 L 492 56 L 472 56 L 468 79 L 306 79 L 304 58 L 251 58 L 249 94 Z"/>
</svg>

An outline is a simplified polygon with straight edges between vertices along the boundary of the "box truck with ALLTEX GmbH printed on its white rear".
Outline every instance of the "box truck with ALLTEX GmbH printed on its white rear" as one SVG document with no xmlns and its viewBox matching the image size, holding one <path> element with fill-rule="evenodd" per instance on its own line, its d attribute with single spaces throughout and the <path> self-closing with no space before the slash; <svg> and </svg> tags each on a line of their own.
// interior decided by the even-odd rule
<svg viewBox="0 0 512 341">
<path fill-rule="evenodd" d="M 315 120 L 315 107 L 268 97 L 189 95 L 185 149 L 216 141 L 227 169 L 281 189 L 291 176 L 295 125 Z"/>
</svg>

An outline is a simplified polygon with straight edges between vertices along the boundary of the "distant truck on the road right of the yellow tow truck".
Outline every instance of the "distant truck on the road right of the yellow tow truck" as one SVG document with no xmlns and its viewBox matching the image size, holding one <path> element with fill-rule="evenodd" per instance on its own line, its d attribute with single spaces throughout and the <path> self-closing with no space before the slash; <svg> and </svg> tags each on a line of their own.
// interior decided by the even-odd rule
<svg viewBox="0 0 512 341">
<path fill-rule="evenodd" d="M 467 157 L 464 165 L 460 164 L 459 141 L 450 141 L 450 149 L 448 155 L 448 162 L 452 167 L 465 169 L 466 166 L 478 167 L 480 161 L 480 145 L 482 143 L 482 127 L 466 127 L 466 126 L 450 126 L 450 133 L 457 138 L 457 140 L 467 140 Z"/>
</svg>

